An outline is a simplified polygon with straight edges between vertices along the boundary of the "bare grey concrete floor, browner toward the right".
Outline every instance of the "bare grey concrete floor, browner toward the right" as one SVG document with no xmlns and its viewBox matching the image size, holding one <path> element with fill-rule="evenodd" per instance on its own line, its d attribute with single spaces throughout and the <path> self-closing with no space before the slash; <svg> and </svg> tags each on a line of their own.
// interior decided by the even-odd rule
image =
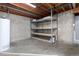
<svg viewBox="0 0 79 59">
<path fill-rule="evenodd" d="M 78 45 L 55 44 L 42 42 L 36 39 L 26 39 L 13 42 L 8 51 L 0 53 L 1 56 L 26 56 L 26 55 L 54 55 L 54 56 L 79 56 Z"/>
</svg>

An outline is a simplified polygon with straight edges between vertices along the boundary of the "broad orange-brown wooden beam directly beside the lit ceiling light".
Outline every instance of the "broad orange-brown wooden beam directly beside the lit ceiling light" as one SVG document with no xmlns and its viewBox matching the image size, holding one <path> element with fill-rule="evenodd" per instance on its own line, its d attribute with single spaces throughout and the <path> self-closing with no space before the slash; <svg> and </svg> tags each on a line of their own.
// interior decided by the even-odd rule
<svg viewBox="0 0 79 59">
<path fill-rule="evenodd" d="M 44 13 L 41 13 L 40 10 L 36 9 L 36 8 L 32 8 L 31 6 L 27 5 L 27 4 L 23 4 L 23 3 L 10 3 L 11 5 L 17 6 L 19 8 L 25 9 L 27 11 L 30 11 L 34 14 L 37 14 L 39 16 L 45 16 Z"/>
</svg>

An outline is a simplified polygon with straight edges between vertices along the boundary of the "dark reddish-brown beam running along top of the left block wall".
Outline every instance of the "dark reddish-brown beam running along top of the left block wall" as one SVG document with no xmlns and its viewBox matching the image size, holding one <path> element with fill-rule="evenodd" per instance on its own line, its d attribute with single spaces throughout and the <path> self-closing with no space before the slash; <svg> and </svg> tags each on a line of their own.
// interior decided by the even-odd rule
<svg viewBox="0 0 79 59">
<path fill-rule="evenodd" d="M 10 9 L 10 8 L 5 8 L 3 6 L 0 6 L 0 11 L 6 12 L 6 13 L 8 13 L 8 11 L 9 11 L 9 13 L 11 13 L 11 14 L 25 16 L 25 17 L 30 17 L 30 18 L 36 18 L 36 19 L 40 18 L 40 17 L 36 17 L 36 16 L 30 15 L 30 14 L 26 14 L 26 13 L 17 11 L 17 10 L 13 10 L 13 9 Z"/>
</svg>

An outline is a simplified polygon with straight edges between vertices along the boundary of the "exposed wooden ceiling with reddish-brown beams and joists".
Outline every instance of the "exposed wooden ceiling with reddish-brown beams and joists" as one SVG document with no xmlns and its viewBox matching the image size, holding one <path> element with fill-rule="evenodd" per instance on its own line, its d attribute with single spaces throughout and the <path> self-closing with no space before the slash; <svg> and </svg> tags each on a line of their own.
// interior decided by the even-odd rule
<svg viewBox="0 0 79 59">
<path fill-rule="evenodd" d="M 53 14 L 61 13 L 68 10 L 73 10 L 74 13 L 79 13 L 79 3 L 32 3 L 36 5 L 33 8 L 25 3 L 0 3 L 0 11 L 8 12 L 16 15 L 21 15 L 30 18 L 43 18 L 50 15 L 52 8 Z"/>
</svg>

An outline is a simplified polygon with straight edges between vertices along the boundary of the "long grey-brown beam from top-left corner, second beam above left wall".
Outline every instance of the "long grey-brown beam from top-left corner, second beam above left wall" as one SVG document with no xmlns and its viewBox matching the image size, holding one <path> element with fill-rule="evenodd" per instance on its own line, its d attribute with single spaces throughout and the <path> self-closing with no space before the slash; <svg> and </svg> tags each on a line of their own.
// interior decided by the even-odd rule
<svg viewBox="0 0 79 59">
<path fill-rule="evenodd" d="M 19 8 L 15 7 L 15 6 L 12 6 L 12 5 L 8 4 L 8 3 L 0 3 L 0 7 L 4 7 L 4 8 L 8 8 L 8 9 L 13 9 L 13 10 L 15 10 L 16 12 L 20 12 L 20 13 L 23 13 L 23 14 L 27 14 L 26 17 L 28 17 L 28 16 L 33 16 L 34 18 L 35 18 L 35 17 L 36 17 L 36 18 L 41 18 L 41 17 L 38 16 L 38 15 L 29 13 L 29 12 L 27 12 L 27 11 L 25 11 L 25 10 L 19 9 Z M 2 11 L 2 9 L 1 9 L 1 11 Z M 14 13 L 13 13 L 13 14 L 14 14 Z M 16 13 L 15 13 L 15 14 L 16 14 Z"/>
</svg>

